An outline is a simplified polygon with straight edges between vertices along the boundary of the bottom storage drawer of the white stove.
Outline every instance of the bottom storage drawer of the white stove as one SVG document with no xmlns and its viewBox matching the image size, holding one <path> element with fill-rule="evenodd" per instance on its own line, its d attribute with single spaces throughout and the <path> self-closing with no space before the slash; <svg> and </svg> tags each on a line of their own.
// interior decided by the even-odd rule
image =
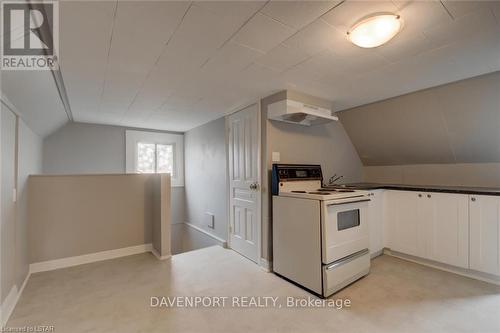
<svg viewBox="0 0 500 333">
<path fill-rule="evenodd" d="M 323 296 L 328 297 L 370 272 L 370 251 L 364 249 L 323 266 Z"/>
</svg>

